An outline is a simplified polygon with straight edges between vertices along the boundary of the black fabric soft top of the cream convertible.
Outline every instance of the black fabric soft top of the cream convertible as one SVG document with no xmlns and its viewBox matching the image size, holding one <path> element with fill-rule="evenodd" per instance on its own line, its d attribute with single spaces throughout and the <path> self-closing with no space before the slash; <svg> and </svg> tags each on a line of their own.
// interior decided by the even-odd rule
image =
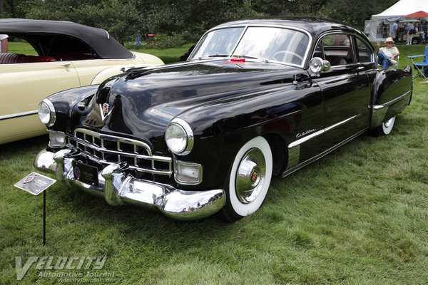
<svg viewBox="0 0 428 285">
<path fill-rule="evenodd" d="M 44 41 L 46 44 L 55 36 L 66 36 L 86 43 L 98 58 L 133 58 L 133 53 L 118 43 L 107 31 L 71 21 L 0 19 L 0 33 L 18 36 L 30 43 Z"/>
</svg>

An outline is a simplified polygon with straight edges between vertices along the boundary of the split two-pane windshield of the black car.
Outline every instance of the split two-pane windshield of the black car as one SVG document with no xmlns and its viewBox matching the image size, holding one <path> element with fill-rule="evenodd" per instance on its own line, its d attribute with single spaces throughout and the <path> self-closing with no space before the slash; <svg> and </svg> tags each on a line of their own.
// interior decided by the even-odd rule
<svg viewBox="0 0 428 285">
<path fill-rule="evenodd" d="M 236 56 L 301 66 L 308 43 L 305 33 L 288 28 L 222 28 L 201 39 L 192 59 Z"/>
</svg>

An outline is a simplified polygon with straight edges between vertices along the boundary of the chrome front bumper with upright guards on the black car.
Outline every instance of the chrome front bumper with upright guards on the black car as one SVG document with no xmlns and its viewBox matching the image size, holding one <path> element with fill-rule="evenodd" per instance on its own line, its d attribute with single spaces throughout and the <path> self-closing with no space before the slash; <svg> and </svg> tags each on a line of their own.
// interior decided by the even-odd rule
<svg viewBox="0 0 428 285">
<path fill-rule="evenodd" d="M 179 190 L 126 174 L 125 162 L 113 163 L 98 171 L 98 186 L 76 180 L 73 161 L 78 151 L 63 149 L 52 152 L 42 150 L 34 160 L 34 167 L 41 172 L 56 175 L 56 180 L 67 187 L 77 187 L 91 194 L 103 196 L 108 204 L 120 206 L 133 204 L 158 209 L 173 219 L 201 219 L 214 214 L 225 204 L 224 190 Z"/>
</svg>

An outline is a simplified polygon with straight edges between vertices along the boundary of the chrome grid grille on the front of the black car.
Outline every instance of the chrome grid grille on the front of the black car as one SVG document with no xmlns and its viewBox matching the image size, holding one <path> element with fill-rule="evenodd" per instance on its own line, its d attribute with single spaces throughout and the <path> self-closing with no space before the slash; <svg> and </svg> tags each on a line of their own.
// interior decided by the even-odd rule
<svg viewBox="0 0 428 285">
<path fill-rule="evenodd" d="M 172 175 L 172 159 L 153 155 L 146 142 L 96 133 L 78 128 L 67 135 L 67 142 L 81 150 L 91 160 L 102 164 L 126 162 L 139 172 L 155 175 Z"/>
</svg>

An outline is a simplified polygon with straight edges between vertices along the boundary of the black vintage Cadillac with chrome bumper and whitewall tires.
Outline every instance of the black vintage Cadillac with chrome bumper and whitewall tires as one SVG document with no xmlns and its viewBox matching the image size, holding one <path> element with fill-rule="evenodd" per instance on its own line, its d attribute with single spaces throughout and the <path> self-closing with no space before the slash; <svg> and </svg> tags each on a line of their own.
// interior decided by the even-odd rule
<svg viewBox="0 0 428 285">
<path fill-rule="evenodd" d="M 367 37 L 336 21 L 212 28 L 185 63 L 133 68 L 46 98 L 49 148 L 34 165 L 111 205 L 235 221 L 285 177 L 363 133 L 387 135 L 411 68 L 381 70 Z"/>
</svg>

